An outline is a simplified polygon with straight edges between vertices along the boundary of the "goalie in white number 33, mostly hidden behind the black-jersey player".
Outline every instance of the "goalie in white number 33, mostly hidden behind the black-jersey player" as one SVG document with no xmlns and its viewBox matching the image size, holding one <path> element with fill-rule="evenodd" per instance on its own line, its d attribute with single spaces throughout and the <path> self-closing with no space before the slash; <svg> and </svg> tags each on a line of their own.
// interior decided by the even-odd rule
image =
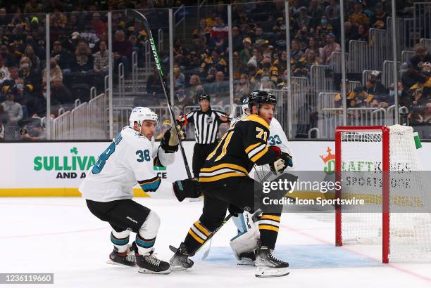
<svg viewBox="0 0 431 288">
<path fill-rule="evenodd" d="M 235 118 L 232 124 L 249 114 L 249 99 L 245 98 L 242 103 L 242 115 Z M 280 122 L 278 122 L 275 117 L 273 117 L 270 122 L 269 130 L 270 136 L 268 138 L 268 145 L 278 146 L 282 152 L 292 156 L 285 131 L 283 131 Z M 288 166 L 287 169 L 293 169 L 293 167 Z M 265 181 L 270 181 L 277 177 L 275 174 L 267 176 L 268 171 L 270 171 L 269 165 L 254 166 L 254 171 L 256 174 L 255 179 L 258 181 L 263 181 L 264 179 Z M 255 265 L 255 250 L 258 247 L 258 240 L 260 237 L 258 229 L 259 221 L 257 221 L 257 219 L 258 216 L 253 216 L 248 211 L 244 211 L 242 214 L 232 217 L 232 221 L 234 221 L 237 226 L 237 235 L 230 240 L 230 247 L 237 258 L 238 265 Z"/>
</svg>

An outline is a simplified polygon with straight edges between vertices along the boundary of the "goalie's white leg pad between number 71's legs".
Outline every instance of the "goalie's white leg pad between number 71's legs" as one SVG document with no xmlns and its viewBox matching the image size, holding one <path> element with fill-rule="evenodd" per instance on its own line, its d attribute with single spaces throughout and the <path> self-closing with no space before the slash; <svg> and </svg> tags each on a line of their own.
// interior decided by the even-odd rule
<svg viewBox="0 0 431 288">
<path fill-rule="evenodd" d="M 249 212 L 244 211 L 237 218 L 239 220 L 235 220 L 234 223 L 235 225 L 238 223 L 238 231 L 242 232 L 230 240 L 230 247 L 235 257 L 239 259 L 241 254 L 254 251 L 258 247 L 260 233 Z"/>
</svg>

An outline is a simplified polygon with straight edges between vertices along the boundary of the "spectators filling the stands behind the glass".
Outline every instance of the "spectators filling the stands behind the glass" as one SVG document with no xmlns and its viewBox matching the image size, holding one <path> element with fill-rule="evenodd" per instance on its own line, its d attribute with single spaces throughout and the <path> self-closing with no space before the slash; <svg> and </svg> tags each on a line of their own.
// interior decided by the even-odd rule
<svg viewBox="0 0 431 288">
<path fill-rule="evenodd" d="M 114 11 L 114 72 L 117 72 L 118 64 L 123 63 L 128 77 L 132 52 L 142 55 L 148 37 L 142 23 L 125 17 L 118 10 L 166 8 L 178 6 L 181 1 L 30 0 L 4 3 L 5 6 L 0 7 L 0 138 L 5 126 L 25 128 L 30 122 L 36 122 L 34 126 L 38 126 L 46 114 L 44 13 L 50 13 L 51 118 L 55 118 L 58 107 L 70 109 L 77 98 L 87 100 L 89 86 L 103 86 L 104 76 L 108 74 L 107 18 L 105 13 L 97 11 Z M 230 103 L 226 4 L 227 1 L 217 1 L 209 8 L 208 15 L 196 22 L 196 28 L 186 39 L 174 41 L 173 82 L 175 103 L 180 108 L 197 105 L 196 95 L 202 92 L 213 96 L 213 105 Z M 232 4 L 235 103 L 241 103 L 254 89 L 285 88 L 289 74 L 309 78 L 313 65 L 329 65 L 332 53 L 341 51 L 339 1 L 289 1 L 289 53 L 286 52 L 285 1 L 261 0 L 248 4 L 232 1 Z M 408 13 L 405 6 L 411 6 L 411 1 L 397 1 L 398 13 Z M 370 28 L 387 29 L 390 1 L 345 1 L 344 10 L 346 48 L 351 40 L 368 41 Z M 159 22 L 164 20 L 158 19 Z M 425 123 L 427 113 L 431 113 L 431 104 L 428 105 L 430 53 L 424 48 L 416 46 L 415 56 L 401 65 L 399 96 L 402 105 L 411 110 L 408 114 L 411 123 Z M 287 70 L 288 59 L 290 70 Z M 162 54 L 161 60 L 167 65 L 168 55 Z M 392 88 L 382 86 L 381 74 L 373 72 L 363 87 L 348 91 L 349 107 L 393 105 L 393 85 Z M 163 89 L 156 70 L 146 79 L 146 93 L 160 103 Z M 339 103 L 341 99 L 336 96 L 335 101 Z M 39 137 L 36 132 L 28 136 Z"/>
</svg>

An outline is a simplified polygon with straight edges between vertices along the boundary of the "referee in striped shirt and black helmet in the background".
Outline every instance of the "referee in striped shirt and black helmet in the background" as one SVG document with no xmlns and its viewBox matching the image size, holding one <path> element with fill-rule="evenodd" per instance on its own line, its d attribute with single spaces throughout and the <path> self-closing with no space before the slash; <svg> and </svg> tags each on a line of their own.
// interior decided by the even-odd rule
<svg viewBox="0 0 431 288">
<path fill-rule="evenodd" d="M 196 143 L 193 149 L 192 169 L 195 178 L 199 178 L 199 171 L 204 166 L 206 157 L 217 146 L 218 127 L 222 123 L 230 122 L 229 114 L 211 109 L 208 94 L 199 94 L 198 98 L 200 109 L 177 117 L 181 125 L 194 124 Z"/>
</svg>

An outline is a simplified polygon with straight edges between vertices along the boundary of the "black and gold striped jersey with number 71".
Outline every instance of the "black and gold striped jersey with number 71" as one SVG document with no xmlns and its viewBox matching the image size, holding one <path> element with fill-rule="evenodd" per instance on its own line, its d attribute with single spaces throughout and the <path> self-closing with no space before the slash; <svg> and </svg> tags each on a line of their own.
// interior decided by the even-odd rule
<svg viewBox="0 0 431 288">
<path fill-rule="evenodd" d="M 206 158 L 199 182 L 246 176 L 254 164 L 274 162 L 277 152 L 266 145 L 269 134 L 268 123 L 262 117 L 252 114 L 240 119 L 227 130 Z"/>
</svg>

